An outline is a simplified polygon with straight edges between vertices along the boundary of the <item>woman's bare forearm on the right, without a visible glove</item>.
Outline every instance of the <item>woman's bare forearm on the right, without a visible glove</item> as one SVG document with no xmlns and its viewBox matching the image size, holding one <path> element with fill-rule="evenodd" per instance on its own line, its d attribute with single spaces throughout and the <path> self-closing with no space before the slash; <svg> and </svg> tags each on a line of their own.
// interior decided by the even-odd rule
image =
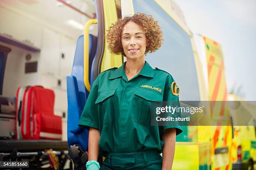
<svg viewBox="0 0 256 170">
<path fill-rule="evenodd" d="M 176 128 L 169 128 L 163 133 L 163 163 L 162 170 L 171 170 L 175 153 Z"/>
</svg>

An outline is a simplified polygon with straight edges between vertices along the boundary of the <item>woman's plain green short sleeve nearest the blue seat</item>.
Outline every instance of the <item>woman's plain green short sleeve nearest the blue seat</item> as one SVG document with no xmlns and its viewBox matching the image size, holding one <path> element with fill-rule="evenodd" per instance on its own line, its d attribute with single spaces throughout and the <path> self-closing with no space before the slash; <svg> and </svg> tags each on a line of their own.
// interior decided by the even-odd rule
<svg viewBox="0 0 256 170">
<path fill-rule="evenodd" d="M 99 85 L 96 79 L 93 82 L 91 91 L 84 106 L 84 110 L 78 122 L 78 126 L 87 130 L 89 130 L 90 127 L 99 129 L 98 105 L 95 104 L 98 96 L 98 87 Z"/>
</svg>

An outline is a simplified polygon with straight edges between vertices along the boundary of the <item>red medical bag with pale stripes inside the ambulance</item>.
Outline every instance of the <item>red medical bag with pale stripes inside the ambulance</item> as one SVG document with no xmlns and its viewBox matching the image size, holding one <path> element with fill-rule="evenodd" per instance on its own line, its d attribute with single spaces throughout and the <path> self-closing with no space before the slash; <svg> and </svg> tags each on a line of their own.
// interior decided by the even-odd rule
<svg viewBox="0 0 256 170">
<path fill-rule="evenodd" d="M 54 115 L 54 91 L 41 86 L 17 90 L 16 138 L 62 138 L 61 117 Z"/>
</svg>

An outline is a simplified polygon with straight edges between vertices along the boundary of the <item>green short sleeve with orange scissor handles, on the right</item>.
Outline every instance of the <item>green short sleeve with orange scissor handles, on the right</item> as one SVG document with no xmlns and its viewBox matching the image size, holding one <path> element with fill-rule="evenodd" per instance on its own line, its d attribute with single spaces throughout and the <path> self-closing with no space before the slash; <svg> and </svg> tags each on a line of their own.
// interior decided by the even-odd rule
<svg viewBox="0 0 256 170">
<path fill-rule="evenodd" d="M 164 87 L 163 101 L 164 103 L 167 103 L 167 105 L 172 104 L 172 107 L 180 107 L 179 96 L 173 94 L 172 88 L 171 88 L 172 85 L 174 90 L 175 80 L 171 75 L 168 75 L 166 78 L 166 83 Z M 177 93 L 179 93 L 179 90 L 177 90 Z M 171 114 L 171 113 L 168 113 L 168 114 Z M 170 115 L 170 116 L 181 117 L 181 114 L 180 112 L 175 112 L 174 115 Z M 162 134 L 164 130 L 169 128 L 176 128 L 176 135 L 179 135 L 180 133 L 182 133 L 182 126 L 180 125 L 180 123 L 172 122 L 169 124 L 167 123 L 166 126 L 159 126 L 160 134 Z"/>
</svg>

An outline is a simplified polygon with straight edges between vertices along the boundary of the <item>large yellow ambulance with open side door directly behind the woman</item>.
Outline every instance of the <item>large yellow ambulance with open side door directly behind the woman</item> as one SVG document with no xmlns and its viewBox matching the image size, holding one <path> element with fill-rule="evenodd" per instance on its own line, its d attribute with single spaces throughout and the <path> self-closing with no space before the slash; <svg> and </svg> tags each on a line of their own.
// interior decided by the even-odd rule
<svg viewBox="0 0 256 170">
<path fill-rule="evenodd" d="M 118 18 L 138 12 L 153 15 L 162 27 L 163 46 L 145 59 L 151 67 L 172 74 L 181 89 L 180 101 L 227 100 L 220 45 L 200 35 L 201 54 L 174 0 L 0 1 L 0 49 L 5 51 L 0 60 L 1 95 L 13 97 L 24 85 L 54 90 L 54 114 L 62 117 L 62 130 L 67 132 L 62 141 L 67 141 L 76 169 L 84 169 L 87 161 L 88 131 L 77 124 L 93 80 L 125 61 L 108 50 L 106 30 Z M 217 119 L 225 117 L 216 109 Z M 177 136 L 173 170 L 231 170 L 236 161 L 231 145 L 231 122 L 184 126 Z"/>
</svg>

